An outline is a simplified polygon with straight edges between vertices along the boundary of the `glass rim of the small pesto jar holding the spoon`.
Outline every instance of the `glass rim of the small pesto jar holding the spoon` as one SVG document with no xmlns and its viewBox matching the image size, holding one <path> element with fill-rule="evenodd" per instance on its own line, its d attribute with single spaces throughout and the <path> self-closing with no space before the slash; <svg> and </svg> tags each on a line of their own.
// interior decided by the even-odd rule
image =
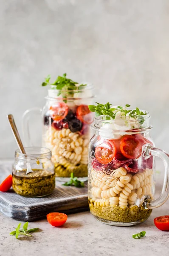
<svg viewBox="0 0 169 256">
<path fill-rule="evenodd" d="M 25 147 L 26 154 L 21 153 L 20 148 L 15 151 L 15 158 L 33 160 L 51 158 L 52 152 L 49 148 L 45 147 Z"/>
</svg>

